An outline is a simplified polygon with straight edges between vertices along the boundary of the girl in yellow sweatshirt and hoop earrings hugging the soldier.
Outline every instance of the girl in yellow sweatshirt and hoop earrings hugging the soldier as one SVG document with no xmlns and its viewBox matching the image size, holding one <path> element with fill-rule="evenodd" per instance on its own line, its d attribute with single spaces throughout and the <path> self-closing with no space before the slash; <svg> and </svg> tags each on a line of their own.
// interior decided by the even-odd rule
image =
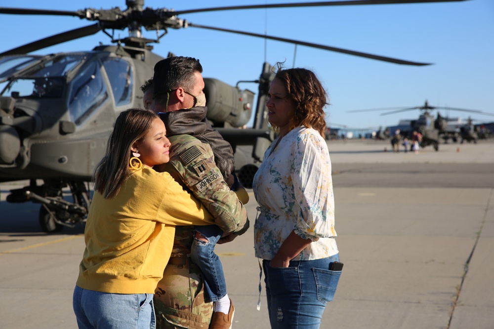
<svg viewBox="0 0 494 329">
<path fill-rule="evenodd" d="M 129 109 L 118 116 L 94 172 L 73 299 L 79 328 L 155 328 L 153 293 L 175 225 L 213 222 L 168 173 L 152 169 L 169 161 L 169 147 L 153 111 Z"/>
</svg>

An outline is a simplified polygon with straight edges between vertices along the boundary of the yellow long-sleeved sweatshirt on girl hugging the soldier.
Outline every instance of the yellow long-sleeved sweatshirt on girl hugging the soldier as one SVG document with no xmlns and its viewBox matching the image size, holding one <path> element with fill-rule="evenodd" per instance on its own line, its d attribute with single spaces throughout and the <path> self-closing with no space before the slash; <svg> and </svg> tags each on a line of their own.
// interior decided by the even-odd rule
<svg viewBox="0 0 494 329">
<path fill-rule="evenodd" d="M 175 225 L 212 222 L 168 173 L 135 171 L 113 198 L 94 192 L 76 284 L 98 292 L 154 293 L 171 254 Z"/>
</svg>

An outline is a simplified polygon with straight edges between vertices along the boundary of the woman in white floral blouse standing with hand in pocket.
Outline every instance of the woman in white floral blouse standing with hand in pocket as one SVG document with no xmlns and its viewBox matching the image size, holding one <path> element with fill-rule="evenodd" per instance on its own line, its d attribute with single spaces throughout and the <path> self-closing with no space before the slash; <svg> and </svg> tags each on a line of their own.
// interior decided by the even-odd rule
<svg viewBox="0 0 494 329">
<path fill-rule="evenodd" d="M 279 135 L 264 154 L 253 191 L 259 204 L 255 256 L 263 259 L 271 328 L 319 328 L 341 274 L 333 267 L 339 256 L 324 139 L 327 104 L 309 70 L 280 68 L 269 88 L 268 121 Z"/>
</svg>

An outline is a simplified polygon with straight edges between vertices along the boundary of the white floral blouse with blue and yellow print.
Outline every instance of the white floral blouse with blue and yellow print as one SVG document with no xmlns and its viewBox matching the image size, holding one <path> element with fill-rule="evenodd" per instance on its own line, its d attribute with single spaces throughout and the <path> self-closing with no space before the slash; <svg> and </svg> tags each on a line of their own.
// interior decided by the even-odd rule
<svg viewBox="0 0 494 329">
<path fill-rule="evenodd" d="M 328 145 L 318 131 L 297 127 L 266 150 L 252 185 L 259 204 L 254 224 L 255 256 L 273 259 L 295 230 L 309 244 L 293 260 L 338 253 Z M 273 149 L 274 148 L 274 149 Z"/>
</svg>

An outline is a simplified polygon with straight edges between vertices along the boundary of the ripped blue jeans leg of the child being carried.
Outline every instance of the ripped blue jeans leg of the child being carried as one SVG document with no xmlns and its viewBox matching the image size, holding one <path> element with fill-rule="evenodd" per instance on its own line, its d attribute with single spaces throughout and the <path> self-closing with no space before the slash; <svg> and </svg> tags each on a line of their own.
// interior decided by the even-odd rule
<svg viewBox="0 0 494 329">
<path fill-rule="evenodd" d="M 201 233 L 208 242 L 195 238 L 190 249 L 190 257 L 199 266 L 204 276 L 204 292 L 206 302 L 217 301 L 226 295 L 225 275 L 221 261 L 214 253 L 214 246 L 223 235 L 217 225 L 196 226 L 196 232 Z"/>
</svg>

